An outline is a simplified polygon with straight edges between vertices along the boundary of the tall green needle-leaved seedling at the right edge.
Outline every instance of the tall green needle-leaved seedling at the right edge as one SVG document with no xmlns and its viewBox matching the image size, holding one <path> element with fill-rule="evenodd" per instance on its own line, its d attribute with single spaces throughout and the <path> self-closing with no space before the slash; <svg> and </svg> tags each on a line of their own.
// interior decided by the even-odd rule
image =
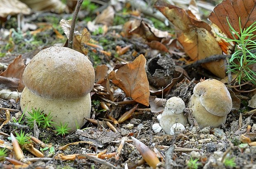
<svg viewBox="0 0 256 169">
<path fill-rule="evenodd" d="M 228 72 L 237 74 L 236 79 L 239 84 L 241 84 L 241 82 L 246 83 L 250 81 L 256 85 L 256 72 L 249 68 L 249 65 L 256 63 L 256 55 L 250 51 L 251 49 L 256 48 L 256 35 L 254 35 L 254 32 L 256 31 L 256 22 L 251 24 L 248 28 L 244 28 L 244 30 L 242 30 L 241 20 L 239 18 L 240 35 L 239 32 L 232 28 L 229 21 L 228 25 L 230 27 L 230 32 L 232 33 L 233 39 L 226 37 L 222 38 L 227 42 L 235 42 L 237 44 L 235 53 L 232 54 L 229 60 L 230 65 L 228 66 Z M 238 37 L 238 39 L 236 39 L 235 35 Z"/>
</svg>

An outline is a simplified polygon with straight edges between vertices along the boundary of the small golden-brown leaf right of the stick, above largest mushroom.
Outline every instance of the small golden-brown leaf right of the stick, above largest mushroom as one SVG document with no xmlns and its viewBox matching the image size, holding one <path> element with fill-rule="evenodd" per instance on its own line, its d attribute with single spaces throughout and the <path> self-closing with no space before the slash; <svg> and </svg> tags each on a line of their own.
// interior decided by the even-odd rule
<svg viewBox="0 0 256 169">
<path fill-rule="evenodd" d="M 89 49 L 85 47 L 85 43 L 89 42 L 91 39 L 90 32 L 84 28 L 82 34 L 76 31 L 75 36 L 73 38 L 73 49 L 87 55 Z"/>
</svg>

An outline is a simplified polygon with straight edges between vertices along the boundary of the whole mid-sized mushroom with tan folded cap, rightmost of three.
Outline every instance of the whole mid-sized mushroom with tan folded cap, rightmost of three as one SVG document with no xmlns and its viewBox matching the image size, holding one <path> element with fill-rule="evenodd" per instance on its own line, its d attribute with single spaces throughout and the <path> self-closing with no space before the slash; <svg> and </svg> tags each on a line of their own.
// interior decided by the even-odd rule
<svg viewBox="0 0 256 169">
<path fill-rule="evenodd" d="M 232 99 L 228 88 L 216 79 L 197 83 L 188 107 L 199 127 L 218 127 L 224 124 L 232 109 Z M 191 124 L 190 119 L 188 122 Z"/>
</svg>

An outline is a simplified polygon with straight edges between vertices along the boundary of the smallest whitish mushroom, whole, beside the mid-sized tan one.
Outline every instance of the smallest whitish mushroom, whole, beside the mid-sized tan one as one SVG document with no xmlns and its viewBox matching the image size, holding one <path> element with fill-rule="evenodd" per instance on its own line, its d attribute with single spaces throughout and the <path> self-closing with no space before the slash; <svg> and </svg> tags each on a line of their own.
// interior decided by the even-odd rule
<svg viewBox="0 0 256 169">
<path fill-rule="evenodd" d="M 171 97 L 166 101 L 164 111 L 160 119 L 160 125 L 165 133 L 170 133 L 174 123 L 187 123 L 187 117 L 184 115 L 185 103 L 179 97 Z"/>
</svg>

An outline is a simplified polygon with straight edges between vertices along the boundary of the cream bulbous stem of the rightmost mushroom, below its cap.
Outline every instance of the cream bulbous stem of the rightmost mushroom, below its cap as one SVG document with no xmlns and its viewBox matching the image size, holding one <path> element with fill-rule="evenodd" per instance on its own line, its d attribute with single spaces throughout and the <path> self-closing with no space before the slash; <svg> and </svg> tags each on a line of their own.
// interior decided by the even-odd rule
<svg viewBox="0 0 256 169">
<path fill-rule="evenodd" d="M 209 113 L 204 106 L 201 105 L 201 101 L 199 97 L 196 97 L 194 94 L 190 98 L 190 102 L 188 103 L 188 107 L 193 111 L 192 114 L 197 121 L 199 127 L 218 127 L 221 124 L 225 124 L 227 115 L 225 116 L 216 116 Z M 188 122 L 191 124 L 190 119 L 188 118 Z"/>
</svg>

